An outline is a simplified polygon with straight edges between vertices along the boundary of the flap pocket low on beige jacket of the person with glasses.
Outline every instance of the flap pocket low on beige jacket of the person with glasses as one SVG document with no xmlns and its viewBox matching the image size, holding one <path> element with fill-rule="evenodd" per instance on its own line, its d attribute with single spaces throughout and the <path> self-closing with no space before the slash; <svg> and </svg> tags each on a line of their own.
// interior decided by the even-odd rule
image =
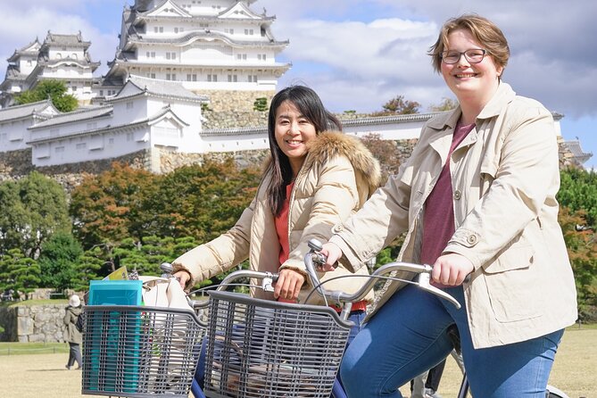
<svg viewBox="0 0 597 398">
<path fill-rule="evenodd" d="M 541 271 L 532 245 L 512 245 L 484 269 L 487 294 L 495 319 L 515 322 L 538 317 Z"/>
</svg>

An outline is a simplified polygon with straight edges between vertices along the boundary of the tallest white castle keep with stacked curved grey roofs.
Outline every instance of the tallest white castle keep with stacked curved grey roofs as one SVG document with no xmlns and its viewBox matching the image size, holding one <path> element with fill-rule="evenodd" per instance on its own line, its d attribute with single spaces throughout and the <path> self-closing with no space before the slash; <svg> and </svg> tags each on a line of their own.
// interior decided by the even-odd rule
<svg viewBox="0 0 597 398">
<path fill-rule="evenodd" d="M 276 62 L 288 42 L 273 37 L 275 17 L 253 12 L 253 3 L 137 0 L 122 13 L 120 45 L 108 63 L 104 95 L 130 75 L 179 81 L 210 95 L 212 103 L 222 91 L 253 93 L 253 99 L 273 93 L 290 67 Z"/>
</svg>

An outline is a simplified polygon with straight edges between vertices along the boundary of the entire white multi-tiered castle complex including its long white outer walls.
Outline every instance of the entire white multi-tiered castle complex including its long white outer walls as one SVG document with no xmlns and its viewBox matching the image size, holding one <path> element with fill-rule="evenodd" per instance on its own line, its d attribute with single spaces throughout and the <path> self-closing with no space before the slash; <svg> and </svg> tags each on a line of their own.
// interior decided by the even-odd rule
<svg viewBox="0 0 597 398">
<path fill-rule="evenodd" d="M 0 85 L 0 159 L 30 151 L 36 167 L 117 159 L 149 153 L 161 172 L 163 153 L 213 153 L 269 147 L 263 122 L 256 126 L 203 129 L 203 107 L 245 93 L 271 97 L 290 68 L 276 62 L 287 41 L 271 34 L 275 17 L 258 14 L 254 0 L 136 0 L 122 13 L 120 43 L 110 70 L 94 78 L 99 62 L 77 35 L 48 32 L 8 58 Z M 13 96 L 43 79 L 60 79 L 79 99 L 77 111 L 58 112 L 49 101 L 8 106 Z M 250 104 L 252 106 L 252 104 Z M 241 110 L 231 107 L 231 113 Z M 250 107 L 249 107 L 250 108 Z M 250 108 L 252 111 L 252 109 Z M 355 136 L 419 137 L 433 114 L 344 121 Z M 561 115 L 554 113 L 560 134 Z M 261 119 L 262 120 L 262 119 Z"/>
</svg>

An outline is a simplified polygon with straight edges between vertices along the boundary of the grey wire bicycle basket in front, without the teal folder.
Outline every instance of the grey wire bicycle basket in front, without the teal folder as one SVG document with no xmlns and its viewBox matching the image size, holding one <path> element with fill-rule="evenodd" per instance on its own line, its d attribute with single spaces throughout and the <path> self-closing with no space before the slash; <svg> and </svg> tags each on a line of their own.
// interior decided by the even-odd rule
<svg viewBox="0 0 597 398">
<path fill-rule="evenodd" d="M 329 398 L 350 322 L 324 306 L 209 294 L 207 397 Z"/>
</svg>

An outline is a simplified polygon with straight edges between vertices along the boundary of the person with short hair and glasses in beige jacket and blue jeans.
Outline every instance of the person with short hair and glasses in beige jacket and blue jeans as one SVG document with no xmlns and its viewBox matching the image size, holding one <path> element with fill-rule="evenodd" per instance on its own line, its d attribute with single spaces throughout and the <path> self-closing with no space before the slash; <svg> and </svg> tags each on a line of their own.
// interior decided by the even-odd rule
<svg viewBox="0 0 597 398">
<path fill-rule="evenodd" d="M 462 308 L 389 282 L 341 377 L 350 397 L 402 396 L 399 386 L 452 351 L 455 325 L 473 396 L 543 398 L 577 316 L 551 112 L 502 81 L 509 46 L 485 18 L 445 22 L 429 54 L 460 106 L 429 120 L 398 174 L 334 228 L 323 268 L 358 269 L 405 232 L 399 260 L 432 264 Z"/>
</svg>

